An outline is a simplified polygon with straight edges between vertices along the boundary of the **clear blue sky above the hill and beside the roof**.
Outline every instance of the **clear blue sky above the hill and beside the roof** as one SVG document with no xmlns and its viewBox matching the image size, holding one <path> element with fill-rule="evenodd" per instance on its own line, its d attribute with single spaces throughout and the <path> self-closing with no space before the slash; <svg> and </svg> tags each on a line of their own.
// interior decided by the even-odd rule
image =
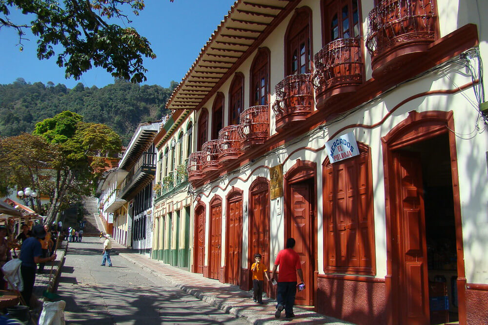
<svg viewBox="0 0 488 325">
<path fill-rule="evenodd" d="M 180 82 L 233 3 L 234 0 L 146 0 L 145 9 L 131 25 L 148 38 L 157 56 L 154 60 L 144 60 L 148 70 L 144 84 L 168 87 L 171 80 Z M 130 8 L 124 9 L 128 12 Z M 25 21 L 20 13 L 14 14 Z M 123 26 L 121 20 L 114 23 Z M 52 81 L 68 88 L 73 88 L 78 82 L 99 88 L 113 83 L 114 79 L 108 72 L 95 68 L 83 74 L 80 80 L 65 79 L 64 69 L 56 64 L 56 56 L 39 60 L 36 56 L 37 38 L 32 34 L 27 37 L 30 40 L 23 42 L 23 51 L 20 52 L 15 30 L 0 30 L 3 47 L 0 51 L 0 84 L 12 83 L 18 77 L 30 83 Z"/>
</svg>

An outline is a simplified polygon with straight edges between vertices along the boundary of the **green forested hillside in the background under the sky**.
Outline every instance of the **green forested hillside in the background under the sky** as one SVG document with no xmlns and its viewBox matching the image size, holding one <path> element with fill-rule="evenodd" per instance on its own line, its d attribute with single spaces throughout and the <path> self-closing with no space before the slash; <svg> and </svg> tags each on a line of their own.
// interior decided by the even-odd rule
<svg viewBox="0 0 488 325">
<path fill-rule="evenodd" d="M 73 89 L 48 82 L 0 85 L 0 136 L 32 132 L 37 122 L 62 111 L 83 116 L 85 122 L 104 123 L 122 137 L 127 145 L 137 125 L 161 119 L 164 105 L 177 83 L 169 88 L 132 84 L 116 80 L 103 88 L 88 88 L 79 83 Z"/>
</svg>

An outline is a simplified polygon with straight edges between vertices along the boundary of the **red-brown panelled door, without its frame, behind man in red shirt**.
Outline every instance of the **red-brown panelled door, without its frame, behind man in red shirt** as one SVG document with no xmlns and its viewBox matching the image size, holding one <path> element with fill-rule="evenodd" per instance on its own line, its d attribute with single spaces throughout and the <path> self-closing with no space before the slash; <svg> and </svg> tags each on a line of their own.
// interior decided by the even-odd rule
<svg viewBox="0 0 488 325">
<path fill-rule="evenodd" d="M 290 186 L 291 215 L 288 233 L 295 238 L 295 251 L 300 256 L 305 290 L 297 291 L 295 305 L 313 305 L 313 198 L 312 183 L 309 181 L 295 183 Z M 300 279 L 297 276 L 297 280 Z"/>
</svg>

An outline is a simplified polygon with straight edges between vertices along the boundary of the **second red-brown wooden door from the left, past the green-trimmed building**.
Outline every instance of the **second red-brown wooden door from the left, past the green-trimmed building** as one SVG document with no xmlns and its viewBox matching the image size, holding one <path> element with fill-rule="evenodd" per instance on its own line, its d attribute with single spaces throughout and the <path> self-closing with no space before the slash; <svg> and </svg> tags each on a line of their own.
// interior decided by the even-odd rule
<svg viewBox="0 0 488 325">
<path fill-rule="evenodd" d="M 210 251 L 208 277 L 219 279 L 222 245 L 222 201 L 210 206 Z"/>
</svg>

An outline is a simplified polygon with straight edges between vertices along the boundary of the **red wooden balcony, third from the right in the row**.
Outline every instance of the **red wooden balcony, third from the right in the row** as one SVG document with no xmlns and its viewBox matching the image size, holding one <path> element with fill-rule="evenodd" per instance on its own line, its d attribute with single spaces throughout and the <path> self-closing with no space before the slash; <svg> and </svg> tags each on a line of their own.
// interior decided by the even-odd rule
<svg viewBox="0 0 488 325">
<path fill-rule="evenodd" d="M 287 76 L 276 85 L 275 92 L 276 101 L 272 108 L 277 132 L 305 120 L 312 112 L 313 87 L 310 74 Z"/>
</svg>

